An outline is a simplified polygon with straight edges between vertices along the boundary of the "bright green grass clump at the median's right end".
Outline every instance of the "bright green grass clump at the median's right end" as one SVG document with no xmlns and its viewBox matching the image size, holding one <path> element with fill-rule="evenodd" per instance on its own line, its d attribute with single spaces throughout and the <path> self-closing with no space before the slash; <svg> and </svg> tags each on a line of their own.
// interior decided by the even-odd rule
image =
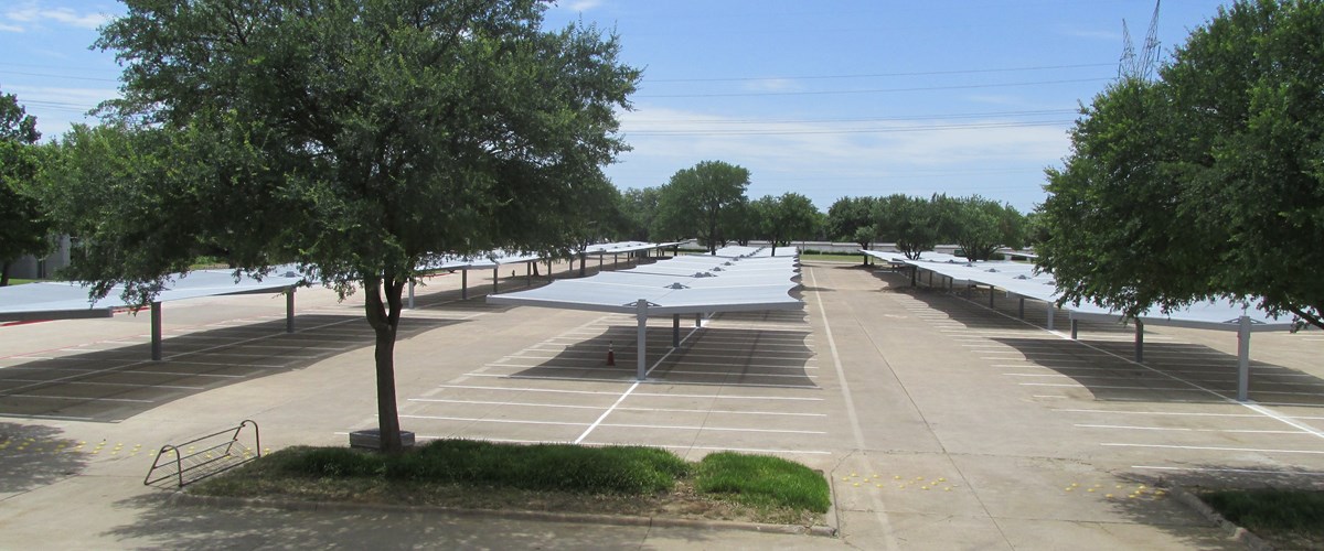
<svg viewBox="0 0 1324 551">
<path fill-rule="evenodd" d="M 711 453 L 699 462 L 694 488 L 753 507 L 808 509 L 828 513 L 828 481 L 798 462 L 771 456 Z"/>
</svg>

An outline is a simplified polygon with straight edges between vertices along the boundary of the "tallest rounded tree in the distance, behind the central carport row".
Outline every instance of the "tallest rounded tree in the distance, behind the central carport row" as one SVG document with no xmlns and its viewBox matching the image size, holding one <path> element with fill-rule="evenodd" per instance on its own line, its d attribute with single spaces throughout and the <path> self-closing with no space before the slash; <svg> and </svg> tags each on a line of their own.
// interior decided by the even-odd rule
<svg viewBox="0 0 1324 551">
<path fill-rule="evenodd" d="M 654 229 L 667 239 L 698 237 L 716 254 L 740 223 L 739 207 L 747 202 L 749 170 L 723 161 L 702 161 L 677 170 L 658 196 Z"/>
</svg>

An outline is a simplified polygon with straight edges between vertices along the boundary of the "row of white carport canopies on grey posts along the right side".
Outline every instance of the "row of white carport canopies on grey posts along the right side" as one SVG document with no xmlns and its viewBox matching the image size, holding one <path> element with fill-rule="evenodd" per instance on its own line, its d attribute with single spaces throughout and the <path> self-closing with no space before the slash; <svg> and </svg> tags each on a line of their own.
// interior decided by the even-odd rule
<svg viewBox="0 0 1324 551">
<path fill-rule="evenodd" d="M 968 262 L 967 259 L 944 255 L 939 252 L 924 252 L 919 260 L 906 259 L 895 252 L 862 251 L 867 255 L 888 262 L 900 262 L 914 267 L 914 270 L 928 271 L 947 277 L 948 287 L 953 285 L 988 285 L 989 307 L 993 305 L 993 288 L 1006 291 L 1009 296 L 1021 299 L 1021 316 L 1025 314 L 1025 299 L 1034 299 L 1047 304 L 1047 329 L 1053 330 L 1053 314 L 1058 299 L 1062 295 L 1057 289 L 1057 281 L 1051 274 L 1035 274 L 1035 267 L 1016 262 Z M 912 274 L 911 283 L 915 283 Z M 932 283 L 932 276 L 929 277 Z M 1087 321 L 1125 321 L 1125 316 L 1116 311 L 1096 307 L 1094 304 L 1079 304 L 1064 307 L 1071 320 L 1071 338 L 1076 338 L 1076 322 Z M 1294 324 L 1290 320 L 1271 316 L 1270 313 L 1239 301 L 1215 299 L 1196 303 L 1185 308 L 1166 313 L 1155 312 L 1133 317 L 1136 322 L 1136 362 L 1144 361 L 1144 326 L 1145 325 L 1172 325 L 1192 329 L 1235 330 L 1238 377 L 1237 399 L 1246 400 L 1250 392 L 1250 334 L 1266 330 L 1290 330 Z"/>
</svg>

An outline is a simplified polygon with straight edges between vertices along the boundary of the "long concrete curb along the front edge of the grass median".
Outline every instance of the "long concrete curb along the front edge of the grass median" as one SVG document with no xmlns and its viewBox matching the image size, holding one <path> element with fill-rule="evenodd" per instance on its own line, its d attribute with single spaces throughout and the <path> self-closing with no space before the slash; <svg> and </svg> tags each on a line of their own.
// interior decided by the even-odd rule
<svg viewBox="0 0 1324 551">
<path fill-rule="evenodd" d="M 665 517 L 636 517 L 589 513 L 555 513 L 555 511 L 519 511 L 519 510 L 486 510 L 486 509 L 454 509 L 440 506 L 409 506 L 385 503 L 348 503 L 327 501 L 297 501 L 297 499 L 249 499 L 238 497 L 192 496 L 184 492 L 175 492 L 166 498 L 171 506 L 207 506 L 221 509 L 242 507 L 271 507 L 287 511 L 372 511 L 372 513 L 422 513 L 422 514 L 449 514 L 455 517 L 487 517 L 514 521 L 544 521 L 585 525 L 608 526 L 647 526 L 647 527 L 679 527 L 700 530 L 739 530 L 768 534 L 813 535 L 835 538 L 837 529 L 831 526 L 800 526 L 800 525 L 767 525 L 757 522 L 735 521 L 700 521 L 690 518 Z"/>
</svg>

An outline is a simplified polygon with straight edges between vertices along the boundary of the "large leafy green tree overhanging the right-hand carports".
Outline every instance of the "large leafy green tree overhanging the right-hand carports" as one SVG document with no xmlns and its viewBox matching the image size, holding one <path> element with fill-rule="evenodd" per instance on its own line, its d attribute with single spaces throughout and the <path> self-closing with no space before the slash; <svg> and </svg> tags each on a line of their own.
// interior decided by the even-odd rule
<svg viewBox="0 0 1324 551">
<path fill-rule="evenodd" d="M 1041 206 L 1063 300 L 1136 316 L 1223 296 L 1324 326 L 1321 63 L 1324 4 L 1239 1 L 1160 81 L 1083 108 Z"/>
</svg>

